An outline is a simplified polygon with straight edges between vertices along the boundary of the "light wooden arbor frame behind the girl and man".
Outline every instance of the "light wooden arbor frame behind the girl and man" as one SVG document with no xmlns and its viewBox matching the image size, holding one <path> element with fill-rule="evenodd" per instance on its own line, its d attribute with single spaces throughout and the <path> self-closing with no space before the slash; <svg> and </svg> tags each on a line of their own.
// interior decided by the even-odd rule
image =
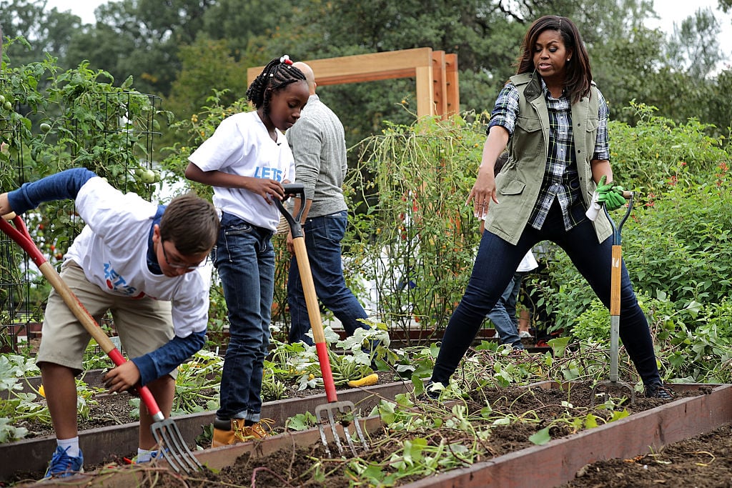
<svg viewBox="0 0 732 488">
<path fill-rule="evenodd" d="M 444 118 L 460 110 L 457 54 L 415 48 L 305 62 L 313 68 L 320 86 L 416 78 L 417 116 L 438 115 Z M 252 83 L 263 69 L 263 66 L 249 68 L 248 82 Z"/>
</svg>

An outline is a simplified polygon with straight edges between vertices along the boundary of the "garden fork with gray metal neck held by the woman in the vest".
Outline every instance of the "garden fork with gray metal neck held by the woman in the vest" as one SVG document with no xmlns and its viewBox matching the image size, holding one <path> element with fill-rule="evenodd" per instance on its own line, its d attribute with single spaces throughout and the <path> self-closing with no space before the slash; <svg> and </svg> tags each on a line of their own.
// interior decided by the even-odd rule
<svg viewBox="0 0 732 488">
<path fill-rule="evenodd" d="M 633 193 L 625 191 L 623 196 L 628 200 L 628 208 L 625 211 L 624 217 L 621 219 L 620 224 L 616 227 L 613 219 L 610 218 L 608 208 L 605 207 L 605 215 L 610 220 L 610 225 L 613 226 L 613 258 L 612 258 L 612 269 L 610 269 L 610 380 L 600 381 L 594 387 L 592 387 L 591 405 L 594 405 L 595 395 L 598 389 L 604 392 L 605 401 L 610 396 L 610 390 L 615 389 L 627 389 L 630 391 L 630 404 L 635 404 L 635 388 L 629 383 L 618 380 L 618 336 L 620 334 L 620 271 L 623 262 L 623 249 L 621 247 L 620 232 L 623 228 L 623 224 L 630 216 L 630 211 L 633 208 Z M 598 388 L 599 387 L 599 388 Z"/>
</svg>

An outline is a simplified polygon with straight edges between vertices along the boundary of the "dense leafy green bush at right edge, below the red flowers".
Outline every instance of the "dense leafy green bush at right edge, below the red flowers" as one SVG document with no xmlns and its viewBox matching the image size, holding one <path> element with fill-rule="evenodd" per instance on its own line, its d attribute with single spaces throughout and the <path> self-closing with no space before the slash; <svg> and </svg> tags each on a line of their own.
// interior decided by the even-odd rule
<svg viewBox="0 0 732 488">
<path fill-rule="evenodd" d="M 634 212 L 623 247 L 635 288 L 662 290 L 672 301 L 716 302 L 732 292 L 732 181 L 678 170 L 654 199 Z"/>
</svg>

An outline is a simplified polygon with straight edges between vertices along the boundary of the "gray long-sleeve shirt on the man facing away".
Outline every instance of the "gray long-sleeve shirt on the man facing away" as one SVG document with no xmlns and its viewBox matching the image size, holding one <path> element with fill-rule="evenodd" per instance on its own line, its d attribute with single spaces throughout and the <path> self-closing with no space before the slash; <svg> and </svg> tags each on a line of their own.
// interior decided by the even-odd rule
<svg viewBox="0 0 732 488">
<path fill-rule="evenodd" d="M 305 198 L 313 200 L 307 217 L 348 209 L 342 189 L 348 170 L 343 124 L 318 95 L 307 99 L 287 140 L 295 157 L 296 181 L 305 185 Z"/>
</svg>

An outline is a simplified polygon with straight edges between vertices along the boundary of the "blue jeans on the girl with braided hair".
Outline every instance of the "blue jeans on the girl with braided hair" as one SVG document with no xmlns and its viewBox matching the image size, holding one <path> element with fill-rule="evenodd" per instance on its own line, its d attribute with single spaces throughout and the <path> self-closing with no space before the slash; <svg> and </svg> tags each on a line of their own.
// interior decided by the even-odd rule
<svg viewBox="0 0 732 488">
<path fill-rule="evenodd" d="M 272 231 L 224 213 L 214 266 L 228 307 L 229 343 L 217 418 L 259 421 L 264 358 L 269 346 L 275 251 Z"/>
</svg>

